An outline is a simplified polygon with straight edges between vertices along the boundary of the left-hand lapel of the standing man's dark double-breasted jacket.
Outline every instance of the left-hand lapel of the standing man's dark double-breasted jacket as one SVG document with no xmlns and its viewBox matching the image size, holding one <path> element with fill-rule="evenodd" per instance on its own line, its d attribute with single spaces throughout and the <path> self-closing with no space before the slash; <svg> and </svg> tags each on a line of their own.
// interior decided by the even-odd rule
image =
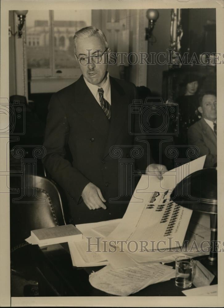
<svg viewBox="0 0 224 308">
<path fill-rule="evenodd" d="M 87 87 L 83 76 L 77 80 L 74 100 L 71 105 L 102 136 L 108 134 L 110 122 Z"/>
</svg>

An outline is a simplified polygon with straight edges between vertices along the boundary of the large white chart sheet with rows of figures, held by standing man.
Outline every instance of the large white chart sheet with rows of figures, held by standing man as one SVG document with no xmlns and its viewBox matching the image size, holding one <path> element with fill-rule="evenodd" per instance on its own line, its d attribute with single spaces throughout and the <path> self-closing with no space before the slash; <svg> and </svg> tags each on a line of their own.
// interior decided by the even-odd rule
<svg viewBox="0 0 224 308">
<path fill-rule="evenodd" d="M 205 156 L 172 169 L 163 175 L 143 175 L 135 189 L 119 225 L 108 240 L 164 241 L 163 248 L 170 248 L 167 237 L 182 245 L 192 210 L 170 201 L 173 188 L 189 174 L 203 168 Z M 150 250 L 150 247 L 148 248 Z M 154 248 L 155 249 L 155 248 Z"/>
</svg>

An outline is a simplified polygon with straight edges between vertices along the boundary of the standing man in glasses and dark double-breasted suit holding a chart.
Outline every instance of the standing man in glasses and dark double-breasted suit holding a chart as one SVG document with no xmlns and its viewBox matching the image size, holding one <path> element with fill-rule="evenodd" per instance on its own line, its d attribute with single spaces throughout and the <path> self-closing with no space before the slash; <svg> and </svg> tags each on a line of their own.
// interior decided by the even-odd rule
<svg viewBox="0 0 224 308">
<path fill-rule="evenodd" d="M 110 49 L 101 30 L 90 26 L 77 31 L 74 48 L 82 75 L 52 95 L 44 166 L 68 193 L 74 224 L 122 218 L 130 196 L 126 203 L 110 202 L 119 194 L 119 160 L 109 150 L 122 146 L 122 157 L 127 159 L 135 143 L 129 134 L 129 129 L 139 130 L 133 116 L 129 120 L 135 85 L 109 76 Z M 66 159 L 67 146 L 72 162 Z M 141 171 L 147 168 L 158 177 L 167 170 L 153 164 L 147 153 L 137 163 Z"/>
</svg>

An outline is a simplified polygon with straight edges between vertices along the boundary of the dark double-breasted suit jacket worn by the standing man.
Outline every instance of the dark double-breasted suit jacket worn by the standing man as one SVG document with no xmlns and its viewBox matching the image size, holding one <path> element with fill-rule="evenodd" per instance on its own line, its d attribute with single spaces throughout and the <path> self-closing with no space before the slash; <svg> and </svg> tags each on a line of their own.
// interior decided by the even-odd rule
<svg viewBox="0 0 224 308">
<path fill-rule="evenodd" d="M 118 197 L 119 191 L 119 158 L 111 157 L 109 150 L 111 146 L 122 145 L 120 158 L 127 159 L 130 146 L 135 144 L 134 136 L 129 134 L 129 105 L 135 98 L 135 85 L 110 77 L 110 86 L 110 121 L 83 76 L 52 95 L 49 103 L 43 163 L 67 192 L 75 224 L 121 218 L 127 208 L 127 202 L 109 202 L 110 198 Z M 131 130 L 138 131 L 134 115 L 130 121 Z M 143 146 L 146 152 L 146 143 L 136 144 Z M 71 162 L 66 159 L 66 145 L 72 155 Z M 138 168 L 145 170 L 149 161 L 153 162 L 151 156 L 148 159 L 144 155 L 137 161 Z M 89 210 L 84 204 L 81 193 L 89 182 L 101 189 L 107 200 L 106 210 Z M 126 200 L 129 201 L 130 196 L 126 196 Z"/>
</svg>

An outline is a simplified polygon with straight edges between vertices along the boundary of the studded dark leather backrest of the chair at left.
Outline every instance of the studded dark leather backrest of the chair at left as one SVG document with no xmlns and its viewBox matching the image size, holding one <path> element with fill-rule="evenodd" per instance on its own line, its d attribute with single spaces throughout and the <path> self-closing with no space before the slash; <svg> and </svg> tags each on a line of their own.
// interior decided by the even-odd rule
<svg viewBox="0 0 224 308">
<path fill-rule="evenodd" d="M 15 180 L 17 178 L 17 180 Z M 59 190 L 42 176 L 10 180 L 10 247 L 23 246 L 31 230 L 66 225 Z"/>
</svg>

